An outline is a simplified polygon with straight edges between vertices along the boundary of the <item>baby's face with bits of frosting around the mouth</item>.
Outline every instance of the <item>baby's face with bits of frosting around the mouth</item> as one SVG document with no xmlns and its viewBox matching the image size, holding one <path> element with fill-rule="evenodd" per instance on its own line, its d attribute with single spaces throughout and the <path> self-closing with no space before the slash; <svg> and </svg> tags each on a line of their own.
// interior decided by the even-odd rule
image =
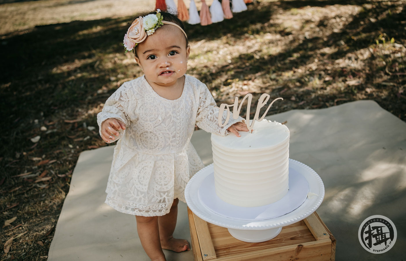
<svg viewBox="0 0 406 261">
<path fill-rule="evenodd" d="M 186 73 L 189 53 L 181 30 L 165 25 L 138 44 L 135 59 L 149 82 L 172 86 Z"/>
</svg>

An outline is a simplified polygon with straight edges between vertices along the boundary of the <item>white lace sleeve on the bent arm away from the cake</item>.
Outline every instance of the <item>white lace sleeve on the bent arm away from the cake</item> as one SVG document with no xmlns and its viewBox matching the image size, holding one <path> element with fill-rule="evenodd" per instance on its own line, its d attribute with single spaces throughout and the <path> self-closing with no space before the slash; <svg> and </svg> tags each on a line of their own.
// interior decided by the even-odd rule
<svg viewBox="0 0 406 261">
<path fill-rule="evenodd" d="M 125 83 L 124 83 L 125 84 Z M 106 101 L 101 112 L 97 114 L 97 124 L 99 125 L 99 134 L 102 136 L 102 123 L 110 118 L 114 118 L 125 123 L 125 129 L 130 125 L 130 117 L 127 114 L 127 108 L 130 103 L 130 93 L 125 85 L 121 85 Z M 112 142 L 123 137 L 125 130 L 119 130 L 117 136 Z"/>
</svg>

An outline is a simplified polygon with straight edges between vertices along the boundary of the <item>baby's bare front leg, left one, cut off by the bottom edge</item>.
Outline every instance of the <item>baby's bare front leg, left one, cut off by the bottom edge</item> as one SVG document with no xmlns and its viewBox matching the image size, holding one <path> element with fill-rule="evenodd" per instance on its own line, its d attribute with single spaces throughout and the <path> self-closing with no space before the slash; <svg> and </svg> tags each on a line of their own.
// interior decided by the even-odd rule
<svg viewBox="0 0 406 261">
<path fill-rule="evenodd" d="M 148 257 L 152 261 L 166 261 L 160 244 L 158 216 L 135 217 L 137 220 L 138 236 L 140 237 L 141 245 L 143 245 Z"/>
</svg>

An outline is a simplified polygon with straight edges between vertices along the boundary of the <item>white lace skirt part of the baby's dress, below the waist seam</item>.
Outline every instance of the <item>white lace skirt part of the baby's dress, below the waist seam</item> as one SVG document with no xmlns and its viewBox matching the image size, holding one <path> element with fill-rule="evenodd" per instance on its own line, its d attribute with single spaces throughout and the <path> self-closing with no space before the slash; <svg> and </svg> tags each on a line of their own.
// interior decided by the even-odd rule
<svg viewBox="0 0 406 261">
<path fill-rule="evenodd" d="M 128 151 L 121 142 L 114 148 L 105 203 L 137 216 L 163 216 L 173 199 L 185 202 L 189 179 L 204 167 L 192 143 L 180 152 L 151 155 Z"/>
</svg>

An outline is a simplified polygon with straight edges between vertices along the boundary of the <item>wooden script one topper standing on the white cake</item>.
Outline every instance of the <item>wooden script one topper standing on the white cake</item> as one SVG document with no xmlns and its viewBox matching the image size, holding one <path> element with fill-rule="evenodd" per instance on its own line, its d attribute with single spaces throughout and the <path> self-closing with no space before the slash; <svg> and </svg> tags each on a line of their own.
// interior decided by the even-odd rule
<svg viewBox="0 0 406 261">
<path fill-rule="evenodd" d="M 238 97 L 235 96 L 234 104 L 221 104 L 220 107 L 216 106 L 216 108 L 219 108 L 219 109 L 218 109 L 218 125 L 220 125 L 220 127 L 224 127 L 225 125 L 227 125 L 227 123 L 228 123 L 228 121 L 229 121 L 229 119 L 230 119 L 230 107 L 233 107 L 233 118 L 234 118 L 234 119 L 237 119 L 238 116 L 240 116 L 240 110 L 241 110 L 242 103 L 243 103 L 243 102 L 245 101 L 245 99 L 247 99 L 247 98 L 248 98 L 248 104 L 247 104 L 247 115 L 246 115 L 245 121 L 246 121 L 246 123 L 247 123 L 247 128 L 248 128 L 248 130 L 249 130 L 250 132 L 252 132 L 252 129 L 253 129 L 253 127 L 254 127 L 255 121 L 262 121 L 262 120 L 265 118 L 265 116 L 266 116 L 268 110 L 271 108 L 271 106 L 272 106 L 272 104 L 274 103 L 274 101 L 279 100 L 279 99 L 280 99 L 280 100 L 283 100 L 283 98 L 281 98 L 281 97 L 274 99 L 274 100 L 271 102 L 271 104 L 268 106 L 268 108 L 266 109 L 266 111 L 264 112 L 264 114 L 261 116 L 261 118 L 258 118 L 258 117 L 259 117 L 259 110 L 261 110 L 261 108 L 262 108 L 264 105 L 266 105 L 266 103 L 268 102 L 268 100 L 269 100 L 269 98 L 270 98 L 270 95 L 268 95 L 268 94 L 266 94 L 266 93 L 263 93 L 263 94 L 261 95 L 261 97 L 259 97 L 258 104 L 257 104 L 257 111 L 255 112 L 255 116 L 254 116 L 253 122 L 252 122 L 251 125 L 250 125 L 250 108 L 251 108 L 251 101 L 252 101 L 252 99 L 253 99 L 253 95 L 252 95 L 251 93 L 247 93 L 247 94 L 244 96 L 244 98 L 242 98 L 240 105 L 238 105 Z M 226 117 L 224 123 L 222 123 L 222 116 L 223 116 L 224 110 L 227 111 L 227 117 Z"/>
</svg>

